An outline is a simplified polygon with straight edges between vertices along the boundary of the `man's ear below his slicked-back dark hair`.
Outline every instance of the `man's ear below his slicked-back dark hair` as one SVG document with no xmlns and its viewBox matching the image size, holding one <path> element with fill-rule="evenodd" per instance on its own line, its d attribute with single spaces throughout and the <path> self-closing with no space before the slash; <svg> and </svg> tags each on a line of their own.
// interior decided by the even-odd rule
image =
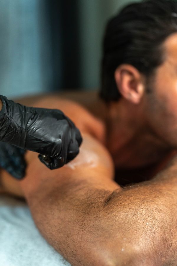
<svg viewBox="0 0 177 266">
<path fill-rule="evenodd" d="M 144 84 L 140 72 L 129 64 L 122 64 L 115 70 L 114 77 L 117 89 L 122 96 L 132 103 L 140 103 L 144 94 Z"/>
</svg>

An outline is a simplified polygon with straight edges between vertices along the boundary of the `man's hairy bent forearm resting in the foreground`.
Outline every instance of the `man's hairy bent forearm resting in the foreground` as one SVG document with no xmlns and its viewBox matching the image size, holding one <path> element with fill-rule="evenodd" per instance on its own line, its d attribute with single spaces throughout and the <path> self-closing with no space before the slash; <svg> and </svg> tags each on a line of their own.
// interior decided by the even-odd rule
<svg viewBox="0 0 177 266">
<path fill-rule="evenodd" d="M 41 233 L 72 265 L 176 265 L 173 161 L 153 180 L 113 192 L 70 176 L 62 185 L 45 181 L 27 200 Z"/>
</svg>

